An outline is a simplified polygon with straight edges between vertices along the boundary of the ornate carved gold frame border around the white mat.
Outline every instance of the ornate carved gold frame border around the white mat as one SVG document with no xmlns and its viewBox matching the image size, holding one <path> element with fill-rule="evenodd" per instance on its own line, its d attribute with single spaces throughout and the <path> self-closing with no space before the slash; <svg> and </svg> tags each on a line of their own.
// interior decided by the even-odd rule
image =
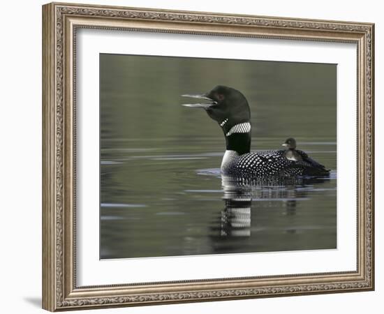
<svg viewBox="0 0 384 314">
<path fill-rule="evenodd" d="M 339 273 L 77 287 L 76 29 L 357 44 L 357 269 Z M 43 6 L 43 308 L 49 311 L 374 289 L 374 24 L 50 3 Z"/>
</svg>

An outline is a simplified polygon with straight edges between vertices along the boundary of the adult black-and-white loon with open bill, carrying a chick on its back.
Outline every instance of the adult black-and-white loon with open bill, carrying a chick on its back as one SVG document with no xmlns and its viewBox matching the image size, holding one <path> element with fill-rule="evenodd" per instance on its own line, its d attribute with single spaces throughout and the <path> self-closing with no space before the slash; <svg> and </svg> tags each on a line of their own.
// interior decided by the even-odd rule
<svg viewBox="0 0 384 314">
<path fill-rule="evenodd" d="M 251 152 L 251 110 L 240 91 L 219 85 L 206 94 L 182 96 L 205 100 L 204 103 L 183 105 L 204 109 L 223 130 L 226 137 L 226 153 L 221 163 L 222 174 L 236 177 L 295 177 L 329 174 L 329 170 L 316 166 L 316 162 L 289 160 L 284 155 L 283 149 Z"/>
</svg>

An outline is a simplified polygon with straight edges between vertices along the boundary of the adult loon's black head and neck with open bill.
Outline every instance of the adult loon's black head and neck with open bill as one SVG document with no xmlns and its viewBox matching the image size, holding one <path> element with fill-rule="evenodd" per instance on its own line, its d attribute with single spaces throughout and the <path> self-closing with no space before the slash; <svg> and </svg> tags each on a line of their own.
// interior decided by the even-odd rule
<svg viewBox="0 0 384 314">
<path fill-rule="evenodd" d="M 244 95 L 226 86 L 216 86 L 205 94 L 185 94 L 183 97 L 205 100 L 204 103 L 183 104 L 202 108 L 214 119 L 226 136 L 227 150 L 249 153 L 251 146 L 251 110 Z"/>
</svg>

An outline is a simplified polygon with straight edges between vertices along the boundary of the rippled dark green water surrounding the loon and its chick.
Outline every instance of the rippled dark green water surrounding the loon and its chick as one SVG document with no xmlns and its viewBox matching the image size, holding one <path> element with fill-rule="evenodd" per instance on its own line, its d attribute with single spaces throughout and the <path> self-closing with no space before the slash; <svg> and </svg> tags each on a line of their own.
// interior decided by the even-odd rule
<svg viewBox="0 0 384 314">
<path fill-rule="evenodd" d="M 101 258 L 336 248 L 336 70 L 101 54 Z M 295 137 L 331 177 L 222 182 L 221 129 L 180 105 L 217 84 L 248 99 L 253 151 Z"/>
</svg>

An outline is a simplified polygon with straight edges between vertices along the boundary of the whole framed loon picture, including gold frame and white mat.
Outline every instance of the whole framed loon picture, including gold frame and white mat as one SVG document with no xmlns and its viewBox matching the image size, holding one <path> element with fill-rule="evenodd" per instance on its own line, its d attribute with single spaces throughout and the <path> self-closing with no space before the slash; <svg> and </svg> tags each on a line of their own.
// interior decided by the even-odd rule
<svg viewBox="0 0 384 314">
<path fill-rule="evenodd" d="M 43 308 L 374 289 L 374 24 L 43 6 Z"/>
</svg>

